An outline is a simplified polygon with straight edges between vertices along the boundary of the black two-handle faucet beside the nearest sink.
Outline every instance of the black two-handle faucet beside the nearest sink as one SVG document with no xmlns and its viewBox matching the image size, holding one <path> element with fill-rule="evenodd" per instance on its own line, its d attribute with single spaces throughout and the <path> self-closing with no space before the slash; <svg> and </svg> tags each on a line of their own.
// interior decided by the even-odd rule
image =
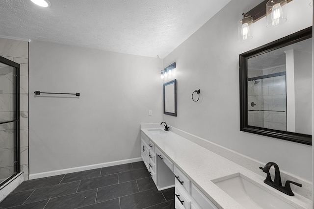
<svg viewBox="0 0 314 209">
<path fill-rule="evenodd" d="M 274 166 L 275 168 L 275 178 L 274 178 L 274 181 L 271 180 L 271 177 L 270 177 L 270 173 L 269 173 L 269 170 L 270 168 Z M 262 169 L 262 171 L 264 173 L 267 173 L 267 176 L 266 176 L 266 179 L 264 180 L 264 183 L 271 186 L 271 187 L 274 187 L 275 189 L 281 191 L 281 192 L 284 192 L 285 194 L 289 195 L 289 196 L 294 196 L 292 190 L 291 190 L 291 187 L 290 187 L 290 183 L 291 184 L 294 184 L 296 186 L 300 186 L 302 187 L 301 184 L 298 184 L 298 183 L 295 183 L 295 182 L 292 182 L 292 181 L 286 181 L 286 184 L 285 186 L 282 185 L 281 183 L 281 177 L 280 177 L 280 170 L 279 170 L 279 167 L 276 163 L 273 163 L 273 162 L 269 162 L 267 164 L 265 164 L 264 167 L 260 167 L 260 169 Z"/>
</svg>

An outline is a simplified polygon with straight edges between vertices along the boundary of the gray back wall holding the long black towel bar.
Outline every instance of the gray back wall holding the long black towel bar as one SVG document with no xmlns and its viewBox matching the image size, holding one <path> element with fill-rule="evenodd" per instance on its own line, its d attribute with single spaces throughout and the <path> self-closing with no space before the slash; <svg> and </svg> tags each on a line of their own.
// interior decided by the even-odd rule
<svg viewBox="0 0 314 209">
<path fill-rule="evenodd" d="M 140 157 L 140 123 L 162 120 L 160 69 L 162 59 L 31 41 L 30 174 Z"/>
</svg>

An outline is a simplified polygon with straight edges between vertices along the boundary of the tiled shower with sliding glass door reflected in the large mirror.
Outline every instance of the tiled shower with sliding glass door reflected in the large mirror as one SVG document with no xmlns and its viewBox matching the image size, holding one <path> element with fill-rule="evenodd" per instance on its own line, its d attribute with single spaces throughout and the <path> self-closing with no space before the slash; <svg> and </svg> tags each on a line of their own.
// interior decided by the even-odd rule
<svg viewBox="0 0 314 209">
<path fill-rule="evenodd" d="M 248 78 L 248 125 L 287 131 L 286 67 Z"/>
</svg>

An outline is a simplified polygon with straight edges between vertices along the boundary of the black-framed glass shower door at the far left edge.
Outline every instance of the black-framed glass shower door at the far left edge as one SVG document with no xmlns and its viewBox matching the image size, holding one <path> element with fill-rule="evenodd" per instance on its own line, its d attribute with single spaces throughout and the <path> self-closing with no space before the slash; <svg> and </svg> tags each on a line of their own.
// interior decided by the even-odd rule
<svg viewBox="0 0 314 209">
<path fill-rule="evenodd" d="M 20 172 L 20 65 L 0 57 L 0 186 Z"/>
</svg>

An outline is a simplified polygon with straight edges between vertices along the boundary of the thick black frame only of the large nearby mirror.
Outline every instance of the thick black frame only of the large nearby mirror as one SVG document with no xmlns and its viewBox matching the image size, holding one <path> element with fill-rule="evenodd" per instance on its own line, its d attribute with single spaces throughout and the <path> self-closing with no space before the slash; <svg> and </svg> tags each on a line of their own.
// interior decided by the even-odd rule
<svg viewBox="0 0 314 209">
<path fill-rule="evenodd" d="M 247 60 L 263 53 L 312 37 L 312 26 L 239 55 L 240 65 L 240 131 L 312 145 L 312 135 L 279 131 L 248 125 Z"/>
</svg>

